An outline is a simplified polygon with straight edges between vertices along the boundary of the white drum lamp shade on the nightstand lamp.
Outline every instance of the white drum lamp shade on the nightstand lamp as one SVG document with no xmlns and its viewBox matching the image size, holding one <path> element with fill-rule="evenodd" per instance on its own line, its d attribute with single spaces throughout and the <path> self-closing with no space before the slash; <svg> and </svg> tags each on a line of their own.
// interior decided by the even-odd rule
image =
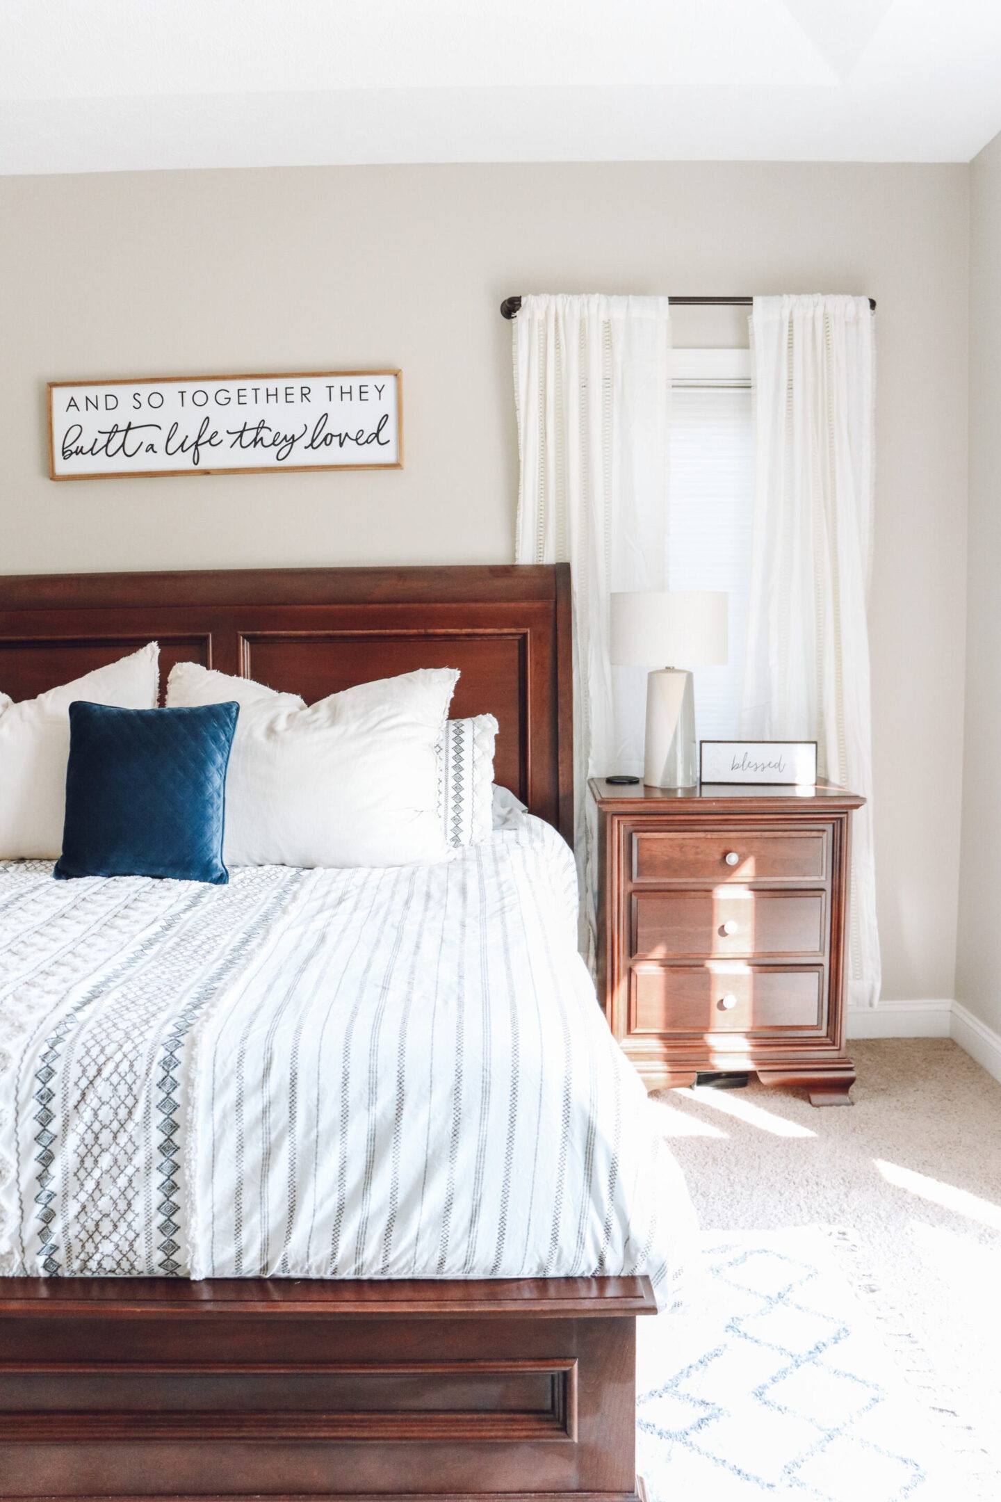
<svg viewBox="0 0 1001 1502">
<path fill-rule="evenodd" d="M 611 596 L 615 667 L 714 667 L 726 662 L 722 590 L 632 590 Z"/>
</svg>

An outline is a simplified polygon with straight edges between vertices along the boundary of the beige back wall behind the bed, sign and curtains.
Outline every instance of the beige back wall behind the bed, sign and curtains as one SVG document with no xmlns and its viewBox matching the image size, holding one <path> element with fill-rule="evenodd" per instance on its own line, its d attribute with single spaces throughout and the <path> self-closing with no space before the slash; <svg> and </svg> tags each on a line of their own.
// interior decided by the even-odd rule
<svg viewBox="0 0 1001 1502">
<path fill-rule="evenodd" d="M 879 300 L 872 592 L 888 999 L 953 988 L 965 167 L 626 164 L 0 180 L 0 568 L 507 560 L 515 291 Z M 678 312 L 680 344 L 743 339 Z M 45 478 L 53 379 L 399 365 L 405 469 Z"/>
</svg>

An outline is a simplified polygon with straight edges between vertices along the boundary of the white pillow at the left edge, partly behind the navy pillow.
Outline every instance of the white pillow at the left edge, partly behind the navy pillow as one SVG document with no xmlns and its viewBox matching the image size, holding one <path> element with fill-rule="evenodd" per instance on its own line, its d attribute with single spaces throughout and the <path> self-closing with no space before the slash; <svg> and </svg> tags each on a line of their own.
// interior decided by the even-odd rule
<svg viewBox="0 0 1001 1502">
<path fill-rule="evenodd" d="M 159 682 L 159 647 L 150 641 L 38 698 L 15 704 L 0 694 L 0 861 L 56 861 L 62 853 L 74 700 L 155 709 Z"/>
</svg>

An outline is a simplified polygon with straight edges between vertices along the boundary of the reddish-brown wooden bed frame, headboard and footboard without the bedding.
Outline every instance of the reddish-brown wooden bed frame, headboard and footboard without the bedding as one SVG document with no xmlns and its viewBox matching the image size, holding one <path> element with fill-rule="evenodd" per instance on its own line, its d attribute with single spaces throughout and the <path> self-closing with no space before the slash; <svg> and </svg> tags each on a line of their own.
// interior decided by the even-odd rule
<svg viewBox="0 0 1001 1502">
<path fill-rule="evenodd" d="M 497 780 L 572 837 L 570 577 L 552 568 L 0 578 L 0 689 L 161 643 L 312 701 L 462 670 Z M 647 1278 L 0 1278 L 3 1497 L 636 1502 Z"/>
</svg>

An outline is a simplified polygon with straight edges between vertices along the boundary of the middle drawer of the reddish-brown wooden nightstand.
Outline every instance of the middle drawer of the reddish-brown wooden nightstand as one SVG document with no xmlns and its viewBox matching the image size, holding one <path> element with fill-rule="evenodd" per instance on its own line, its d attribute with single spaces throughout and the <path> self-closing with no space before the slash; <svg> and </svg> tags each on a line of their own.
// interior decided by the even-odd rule
<svg viewBox="0 0 1001 1502">
<path fill-rule="evenodd" d="M 632 952 L 681 955 L 822 955 L 827 894 L 633 892 Z"/>
</svg>

